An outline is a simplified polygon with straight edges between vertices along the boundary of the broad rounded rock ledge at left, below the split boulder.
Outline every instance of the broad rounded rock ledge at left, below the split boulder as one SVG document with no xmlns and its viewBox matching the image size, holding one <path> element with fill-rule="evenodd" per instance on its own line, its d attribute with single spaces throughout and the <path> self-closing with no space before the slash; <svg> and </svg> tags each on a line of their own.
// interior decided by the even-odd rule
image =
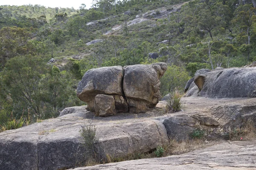
<svg viewBox="0 0 256 170">
<path fill-rule="evenodd" d="M 96 125 L 105 152 L 113 157 L 150 152 L 168 142 L 160 121 L 136 120 L 124 114 L 99 118 L 90 111 L 81 112 L 83 109 L 72 108 L 64 116 L 0 133 L 0 169 L 64 170 L 84 165 L 86 150 L 79 130 L 90 123 Z"/>
</svg>

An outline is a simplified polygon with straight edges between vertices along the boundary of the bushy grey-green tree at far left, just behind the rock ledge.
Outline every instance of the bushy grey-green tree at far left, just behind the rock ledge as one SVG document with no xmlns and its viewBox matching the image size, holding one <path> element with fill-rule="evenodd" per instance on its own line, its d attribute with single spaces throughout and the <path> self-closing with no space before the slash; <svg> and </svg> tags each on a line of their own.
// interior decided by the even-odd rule
<svg viewBox="0 0 256 170">
<path fill-rule="evenodd" d="M 40 57 L 18 56 L 9 59 L 2 73 L 6 91 L 16 105 L 29 108 L 40 118 L 40 80 L 47 72 L 47 65 Z"/>
</svg>

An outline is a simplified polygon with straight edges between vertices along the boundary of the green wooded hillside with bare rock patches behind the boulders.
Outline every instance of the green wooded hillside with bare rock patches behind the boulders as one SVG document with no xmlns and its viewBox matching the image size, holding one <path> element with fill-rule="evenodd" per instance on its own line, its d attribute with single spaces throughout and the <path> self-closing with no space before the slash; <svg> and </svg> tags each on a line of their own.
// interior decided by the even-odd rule
<svg viewBox="0 0 256 170">
<path fill-rule="evenodd" d="M 89 10 L 0 6 L 1 127 L 83 105 L 77 83 L 91 68 L 166 62 L 164 96 L 183 91 L 198 69 L 256 60 L 254 1 L 95 2 Z"/>
</svg>

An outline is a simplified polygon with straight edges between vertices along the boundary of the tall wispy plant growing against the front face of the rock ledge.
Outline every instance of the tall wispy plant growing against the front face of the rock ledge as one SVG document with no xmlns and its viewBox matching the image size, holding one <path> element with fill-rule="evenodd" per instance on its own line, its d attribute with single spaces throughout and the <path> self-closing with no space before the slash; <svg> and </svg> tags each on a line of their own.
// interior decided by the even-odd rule
<svg viewBox="0 0 256 170">
<path fill-rule="evenodd" d="M 96 135 L 95 125 L 81 125 L 80 129 L 81 142 L 85 149 L 84 157 L 86 165 L 94 163 L 105 163 L 107 161 L 107 156 L 99 138 Z"/>
</svg>

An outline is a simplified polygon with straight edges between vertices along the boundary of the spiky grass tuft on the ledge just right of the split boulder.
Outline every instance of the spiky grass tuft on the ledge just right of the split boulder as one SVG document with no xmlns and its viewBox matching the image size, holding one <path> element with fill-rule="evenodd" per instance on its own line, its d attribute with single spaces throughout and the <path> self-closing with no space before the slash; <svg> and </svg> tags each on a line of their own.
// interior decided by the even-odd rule
<svg viewBox="0 0 256 170">
<path fill-rule="evenodd" d="M 181 111 L 181 95 L 175 91 L 170 94 L 170 98 L 167 99 L 166 109 L 167 111 L 174 113 L 177 111 Z"/>
</svg>

